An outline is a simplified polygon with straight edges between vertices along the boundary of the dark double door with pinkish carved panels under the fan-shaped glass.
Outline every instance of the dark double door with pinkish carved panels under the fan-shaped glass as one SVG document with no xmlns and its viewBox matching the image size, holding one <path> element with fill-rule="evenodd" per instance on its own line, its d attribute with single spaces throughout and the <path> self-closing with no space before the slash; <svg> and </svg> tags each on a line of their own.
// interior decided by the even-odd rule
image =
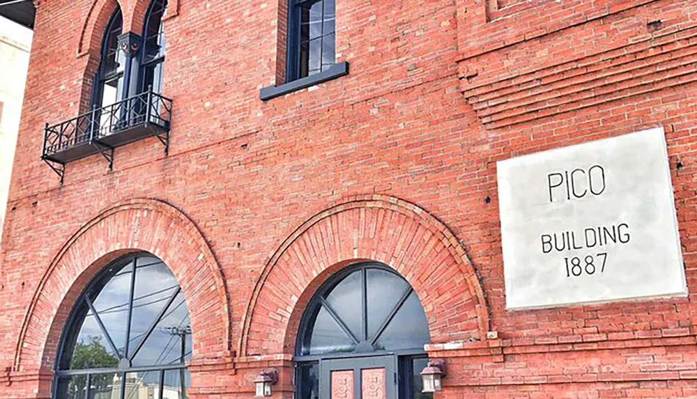
<svg viewBox="0 0 697 399">
<path fill-rule="evenodd" d="M 321 361 L 320 399 L 397 399 L 395 357 Z"/>
</svg>

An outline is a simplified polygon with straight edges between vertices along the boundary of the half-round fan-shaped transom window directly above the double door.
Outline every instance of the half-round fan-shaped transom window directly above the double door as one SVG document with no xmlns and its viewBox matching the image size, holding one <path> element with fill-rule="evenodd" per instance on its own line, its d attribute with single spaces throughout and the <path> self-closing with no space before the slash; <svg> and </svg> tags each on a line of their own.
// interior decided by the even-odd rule
<svg viewBox="0 0 697 399">
<path fill-rule="evenodd" d="M 348 269 L 310 302 L 298 356 L 423 350 L 429 343 L 426 314 L 411 285 L 378 264 Z"/>
</svg>

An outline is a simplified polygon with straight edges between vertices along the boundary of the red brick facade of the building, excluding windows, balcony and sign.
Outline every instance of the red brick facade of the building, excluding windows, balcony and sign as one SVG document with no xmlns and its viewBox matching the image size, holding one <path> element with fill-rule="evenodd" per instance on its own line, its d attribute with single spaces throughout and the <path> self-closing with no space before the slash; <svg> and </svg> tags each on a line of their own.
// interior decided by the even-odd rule
<svg viewBox="0 0 697 399">
<path fill-rule="evenodd" d="M 0 398 L 56 395 L 81 292 L 143 252 L 186 299 L 192 398 L 250 398 L 268 368 L 291 398 L 305 309 L 365 262 L 418 295 L 424 355 L 447 365 L 436 398 L 697 397 L 696 1 L 337 0 L 332 62 L 350 71 L 286 93 L 286 0 L 170 0 L 168 135 L 54 163 L 62 184 L 41 158 L 46 124 L 90 111 L 115 10 L 137 52 L 150 2 L 36 3 Z M 689 295 L 507 310 L 496 162 L 652 127 Z"/>
</svg>

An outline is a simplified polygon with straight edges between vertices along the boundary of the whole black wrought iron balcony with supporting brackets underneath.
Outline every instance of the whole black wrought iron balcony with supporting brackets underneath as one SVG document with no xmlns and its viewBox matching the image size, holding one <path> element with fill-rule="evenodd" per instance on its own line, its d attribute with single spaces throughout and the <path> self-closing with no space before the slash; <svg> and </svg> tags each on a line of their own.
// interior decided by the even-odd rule
<svg viewBox="0 0 697 399">
<path fill-rule="evenodd" d="M 44 129 L 43 159 L 61 176 L 65 165 L 75 159 L 101 154 L 114 166 L 114 148 L 139 139 L 157 136 L 169 150 L 172 101 L 151 89 L 107 107 Z"/>
</svg>

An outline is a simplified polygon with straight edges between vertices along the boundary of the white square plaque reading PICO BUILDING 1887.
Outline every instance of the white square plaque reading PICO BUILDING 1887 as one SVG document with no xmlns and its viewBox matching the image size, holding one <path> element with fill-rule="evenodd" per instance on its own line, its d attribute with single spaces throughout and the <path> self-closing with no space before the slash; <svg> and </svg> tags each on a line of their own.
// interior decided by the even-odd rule
<svg viewBox="0 0 697 399">
<path fill-rule="evenodd" d="M 507 308 L 687 295 L 662 128 L 497 171 Z"/>
</svg>

